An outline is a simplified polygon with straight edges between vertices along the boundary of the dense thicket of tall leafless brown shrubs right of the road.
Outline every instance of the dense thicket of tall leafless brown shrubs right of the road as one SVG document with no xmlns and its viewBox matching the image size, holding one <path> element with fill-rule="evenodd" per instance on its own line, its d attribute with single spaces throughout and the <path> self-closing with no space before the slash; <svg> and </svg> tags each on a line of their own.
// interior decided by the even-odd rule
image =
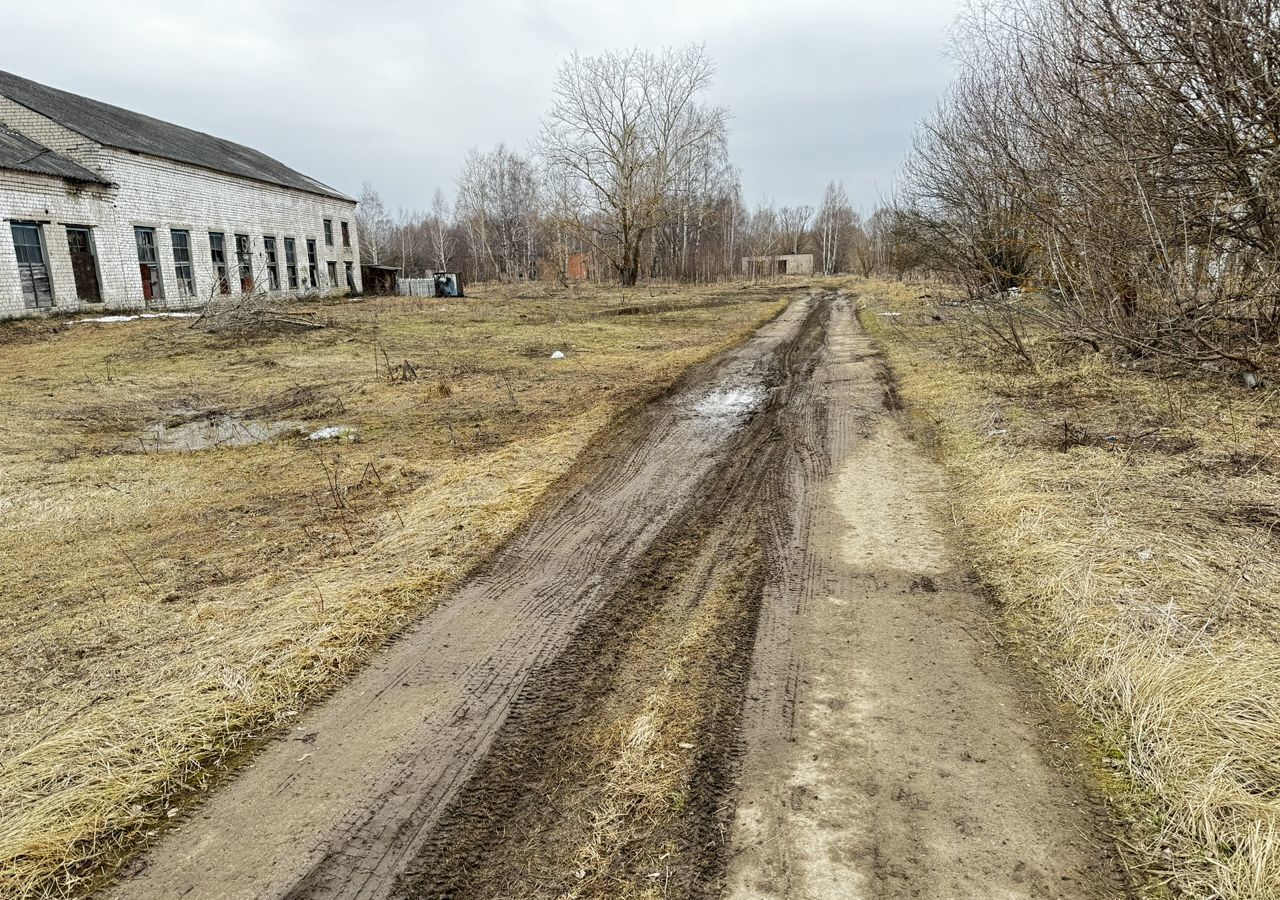
<svg viewBox="0 0 1280 900">
<path fill-rule="evenodd" d="M 906 166 L 906 219 L 973 297 L 1039 287 L 1138 357 L 1280 362 L 1280 8 L 1011 0 Z"/>
</svg>

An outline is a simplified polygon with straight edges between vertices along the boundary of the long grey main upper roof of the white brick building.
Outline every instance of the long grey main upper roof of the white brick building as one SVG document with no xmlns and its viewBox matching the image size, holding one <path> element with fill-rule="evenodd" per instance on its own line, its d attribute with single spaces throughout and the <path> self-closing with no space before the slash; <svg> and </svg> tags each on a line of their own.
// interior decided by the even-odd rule
<svg viewBox="0 0 1280 900">
<path fill-rule="evenodd" d="M 108 147 L 355 202 L 252 147 L 0 72 L 0 96 Z"/>
</svg>

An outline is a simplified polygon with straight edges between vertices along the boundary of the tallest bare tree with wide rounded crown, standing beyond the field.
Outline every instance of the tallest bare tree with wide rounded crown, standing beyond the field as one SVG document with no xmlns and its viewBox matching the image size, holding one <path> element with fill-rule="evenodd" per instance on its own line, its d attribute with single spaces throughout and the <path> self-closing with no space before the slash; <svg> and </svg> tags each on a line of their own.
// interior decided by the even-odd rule
<svg viewBox="0 0 1280 900">
<path fill-rule="evenodd" d="M 727 155 L 727 113 L 699 102 L 714 64 L 701 46 L 575 54 L 557 76 L 538 151 L 561 225 L 635 284 L 672 198 Z"/>
</svg>

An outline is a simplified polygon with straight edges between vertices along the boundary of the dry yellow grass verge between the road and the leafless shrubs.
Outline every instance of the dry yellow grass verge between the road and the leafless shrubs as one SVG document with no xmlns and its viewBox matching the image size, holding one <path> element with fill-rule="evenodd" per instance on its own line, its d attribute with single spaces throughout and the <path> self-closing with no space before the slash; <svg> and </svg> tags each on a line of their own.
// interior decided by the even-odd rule
<svg viewBox="0 0 1280 900">
<path fill-rule="evenodd" d="M 850 287 L 938 439 L 982 576 L 1098 726 L 1144 890 L 1280 896 L 1275 389 L 1037 335 L 1020 371 L 954 330 L 936 285 Z"/>
</svg>

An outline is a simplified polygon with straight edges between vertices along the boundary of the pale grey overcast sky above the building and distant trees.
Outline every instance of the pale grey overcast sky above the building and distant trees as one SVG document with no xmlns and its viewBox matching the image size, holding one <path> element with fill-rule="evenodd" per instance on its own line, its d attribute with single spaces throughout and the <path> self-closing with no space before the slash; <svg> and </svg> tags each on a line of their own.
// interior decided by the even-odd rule
<svg viewBox="0 0 1280 900">
<path fill-rule="evenodd" d="M 527 147 L 563 59 L 705 44 L 746 200 L 872 206 L 946 86 L 960 0 L 0 0 L 0 69 L 247 143 L 392 209 Z"/>
</svg>

